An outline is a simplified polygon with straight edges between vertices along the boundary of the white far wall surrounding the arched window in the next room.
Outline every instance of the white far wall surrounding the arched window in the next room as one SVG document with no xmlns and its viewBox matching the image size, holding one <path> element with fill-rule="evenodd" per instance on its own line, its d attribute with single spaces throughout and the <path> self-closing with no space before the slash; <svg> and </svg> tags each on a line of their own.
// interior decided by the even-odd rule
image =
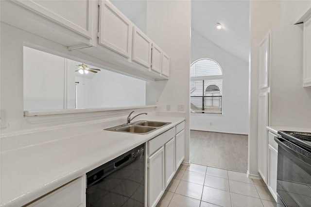
<svg viewBox="0 0 311 207">
<path fill-rule="evenodd" d="M 223 70 L 223 114 L 190 114 L 190 129 L 248 134 L 248 63 L 192 30 L 191 63 L 201 58 L 215 60 Z"/>
</svg>

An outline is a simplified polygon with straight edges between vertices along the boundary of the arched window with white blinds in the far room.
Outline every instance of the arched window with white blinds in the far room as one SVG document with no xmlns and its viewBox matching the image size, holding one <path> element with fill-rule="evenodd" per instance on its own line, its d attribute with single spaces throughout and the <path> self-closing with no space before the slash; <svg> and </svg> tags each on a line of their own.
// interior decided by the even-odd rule
<svg viewBox="0 0 311 207">
<path fill-rule="evenodd" d="M 211 59 L 200 59 L 190 67 L 191 113 L 223 113 L 223 71 Z"/>
</svg>

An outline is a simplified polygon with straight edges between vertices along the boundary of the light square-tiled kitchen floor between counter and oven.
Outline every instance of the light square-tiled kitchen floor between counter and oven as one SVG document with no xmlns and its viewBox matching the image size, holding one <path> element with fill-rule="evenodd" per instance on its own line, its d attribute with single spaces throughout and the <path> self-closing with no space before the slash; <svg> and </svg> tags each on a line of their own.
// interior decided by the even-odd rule
<svg viewBox="0 0 311 207">
<path fill-rule="evenodd" d="M 157 207 L 276 207 L 262 180 L 246 173 L 181 165 Z"/>
</svg>

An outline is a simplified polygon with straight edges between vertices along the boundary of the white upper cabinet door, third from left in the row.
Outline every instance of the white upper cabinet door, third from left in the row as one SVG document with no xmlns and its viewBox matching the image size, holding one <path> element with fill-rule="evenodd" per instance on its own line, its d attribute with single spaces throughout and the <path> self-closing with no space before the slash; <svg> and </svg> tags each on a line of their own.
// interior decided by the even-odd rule
<svg viewBox="0 0 311 207">
<path fill-rule="evenodd" d="M 133 61 L 149 69 L 151 66 L 151 40 L 137 27 L 134 27 L 133 31 Z"/>
</svg>

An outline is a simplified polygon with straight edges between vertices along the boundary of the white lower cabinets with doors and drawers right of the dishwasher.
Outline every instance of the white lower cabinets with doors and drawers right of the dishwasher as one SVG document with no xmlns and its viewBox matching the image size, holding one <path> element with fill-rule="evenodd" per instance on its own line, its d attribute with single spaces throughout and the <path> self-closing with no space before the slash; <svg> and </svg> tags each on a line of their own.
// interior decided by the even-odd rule
<svg viewBox="0 0 311 207">
<path fill-rule="evenodd" d="M 147 204 L 155 207 L 185 157 L 185 122 L 148 141 Z M 178 158 L 177 158 L 178 157 Z"/>
</svg>

